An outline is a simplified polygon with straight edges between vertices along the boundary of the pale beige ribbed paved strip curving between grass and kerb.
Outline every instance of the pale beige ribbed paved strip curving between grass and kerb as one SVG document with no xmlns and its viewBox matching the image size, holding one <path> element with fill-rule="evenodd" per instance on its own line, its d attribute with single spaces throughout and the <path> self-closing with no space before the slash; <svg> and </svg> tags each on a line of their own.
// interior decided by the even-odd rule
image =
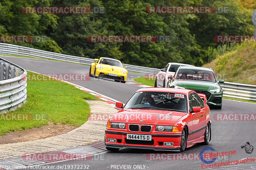
<svg viewBox="0 0 256 170">
<path fill-rule="evenodd" d="M 86 102 L 90 104 L 90 117 L 92 117 L 93 114 L 111 115 L 118 111 L 104 101 L 86 100 Z M 88 120 L 82 126 L 65 134 L 27 142 L 3 144 L 0 145 L 0 159 L 20 157 L 26 153 L 56 151 L 98 142 L 104 140 L 106 125 L 107 120 Z"/>
</svg>

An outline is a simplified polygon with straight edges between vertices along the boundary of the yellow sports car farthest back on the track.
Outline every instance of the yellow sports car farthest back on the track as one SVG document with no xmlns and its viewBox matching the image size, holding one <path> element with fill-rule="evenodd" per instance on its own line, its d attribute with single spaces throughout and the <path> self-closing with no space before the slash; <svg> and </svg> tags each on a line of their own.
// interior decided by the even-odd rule
<svg viewBox="0 0 256 170">
<path fill-rule="evenodd" d="M 114 79 L 125 83 L 127 77 L 126 67 L 123 67 L 121 61 L 106 57 L 94 59 L 95 62 L 91 64 L 90 76 Z"/>
</svg>

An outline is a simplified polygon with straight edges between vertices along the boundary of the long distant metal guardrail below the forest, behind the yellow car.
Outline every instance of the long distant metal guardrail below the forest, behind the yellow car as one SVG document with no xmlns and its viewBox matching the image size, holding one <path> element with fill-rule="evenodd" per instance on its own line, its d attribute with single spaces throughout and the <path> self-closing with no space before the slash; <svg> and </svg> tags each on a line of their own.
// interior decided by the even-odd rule
<svg viewBox="0 0 256 170">
<path fill-rule="evenodd" d="M 6 43 L 0 43 L 0 54 L 21 55 L 21 56 L 60 60 L 60 61 L 67 61 L 67 62 L 73 62 L 73 63 L 79 63 L 79 64 L 87 64 L 87 65 L 91 65 L 91 63 L 94 62 L 94 59 L 90 59 L 90 58 L 53 53 L 49 51 L 38 50 L 35 48 L 17 46 L 17 45 L 6 44 Z M 123 66 L 127 67 L 128 71 L 134 71 L 139 73 L 158 73 L 160 70 L 157 68 L 134 66 L 130 64 L 123 64 Z"/>
</svg>

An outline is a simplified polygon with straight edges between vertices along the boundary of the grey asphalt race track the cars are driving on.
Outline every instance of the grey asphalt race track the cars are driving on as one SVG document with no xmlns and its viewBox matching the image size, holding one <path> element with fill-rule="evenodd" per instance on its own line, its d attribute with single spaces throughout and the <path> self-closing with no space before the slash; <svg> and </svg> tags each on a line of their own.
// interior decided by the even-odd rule
<svg viewBox="0 0 256 170">
<path fill-rule="evenodd" d="M 59 62 L 52 60 L 28 59 L 20 57 L 2 57 L 24 69 L 35 71 L 41 74 L 88 74 L 90 66 L 81 64 L 73 64 L 67 62 Z M 143 74 L 128 73 L 127 79 L 132 76 L 143 76 Z M 141 87 L 120 83 L 110 80 L 90 80 L 90 81 L 70 81 L 85 88 L 94 90 L 100 94 L 126 103 L 129 97 Z M 199 153 L 203 148 L 212 147 L 218 152 L 236 151 L 236 154 L 228 156 L 220 156 L 214 163 L 236 161 L 244 158 L 256 158 L 256 149 L 251 154 L 245 152 L 241 146 L 249 142 L 256 147 L 255 121 L 218 121 L 214 120 L 215 114 L 255 114 L 256 104 L 244 103 L 231 100 L 223 100 L 222 110 L 211 110 L 212 120 L 212 140 L 209 145 L 194 145 L 185 150 L 182 155 L 179 152 L 159 152 L 154 150 L 143 149 L 120 149 L 119 152 L 102 152 L 99 157 L 88 161 L 69 160 L 59 161 L 55 163 L 47 163 L 45 166 L 65 166 L 63 169 L 202 169 L 203 163 L 199 158 Z M 243 116 L 243 115 L 239 115 Z M 254 115 L 255 117 L 255 115 Z M 211 151 L 209 151 L 211 152 Z M 160 153 L 160 154 L 158 154 Z M 161 154 L 162 153 L 162 154 Z M 167 157 L 167 154 L 174 154 Z M 175 160 L 173 160 L 175 156 Z M 158 159 L 158 160 L 154 160 Z M 159 160 L 161 159 L 161 160 Z M 118 165 L 118 166 L 117 166 Z M 127 165 L 127 166 L 126 166 Z M 69 168 L 68 168 L 69 167 Z M 79 168 L 79 169 L 80 169 Z M 205 168 L 205 167 L 204 167 Z M 43 168 L 41 168 L 43 169 Z M 60 169 L 60 168 L 59 168 Z M 256 169 L 256 161 L 240 163 L 237 165 L 227 165 L 205 169 Z"/>
</svg>

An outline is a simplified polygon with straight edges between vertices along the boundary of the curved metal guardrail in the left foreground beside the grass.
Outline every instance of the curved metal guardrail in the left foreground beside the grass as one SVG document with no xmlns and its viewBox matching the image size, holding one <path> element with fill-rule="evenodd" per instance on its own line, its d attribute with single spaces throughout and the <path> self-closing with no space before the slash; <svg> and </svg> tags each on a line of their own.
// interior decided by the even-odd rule
<svg viewBox="0 0 256 170">
<path fill-rule="evenodd" d="M 15 110 L 27 98 L 27 71 L 0 58 L 0 113 Z"/>
</svg>

